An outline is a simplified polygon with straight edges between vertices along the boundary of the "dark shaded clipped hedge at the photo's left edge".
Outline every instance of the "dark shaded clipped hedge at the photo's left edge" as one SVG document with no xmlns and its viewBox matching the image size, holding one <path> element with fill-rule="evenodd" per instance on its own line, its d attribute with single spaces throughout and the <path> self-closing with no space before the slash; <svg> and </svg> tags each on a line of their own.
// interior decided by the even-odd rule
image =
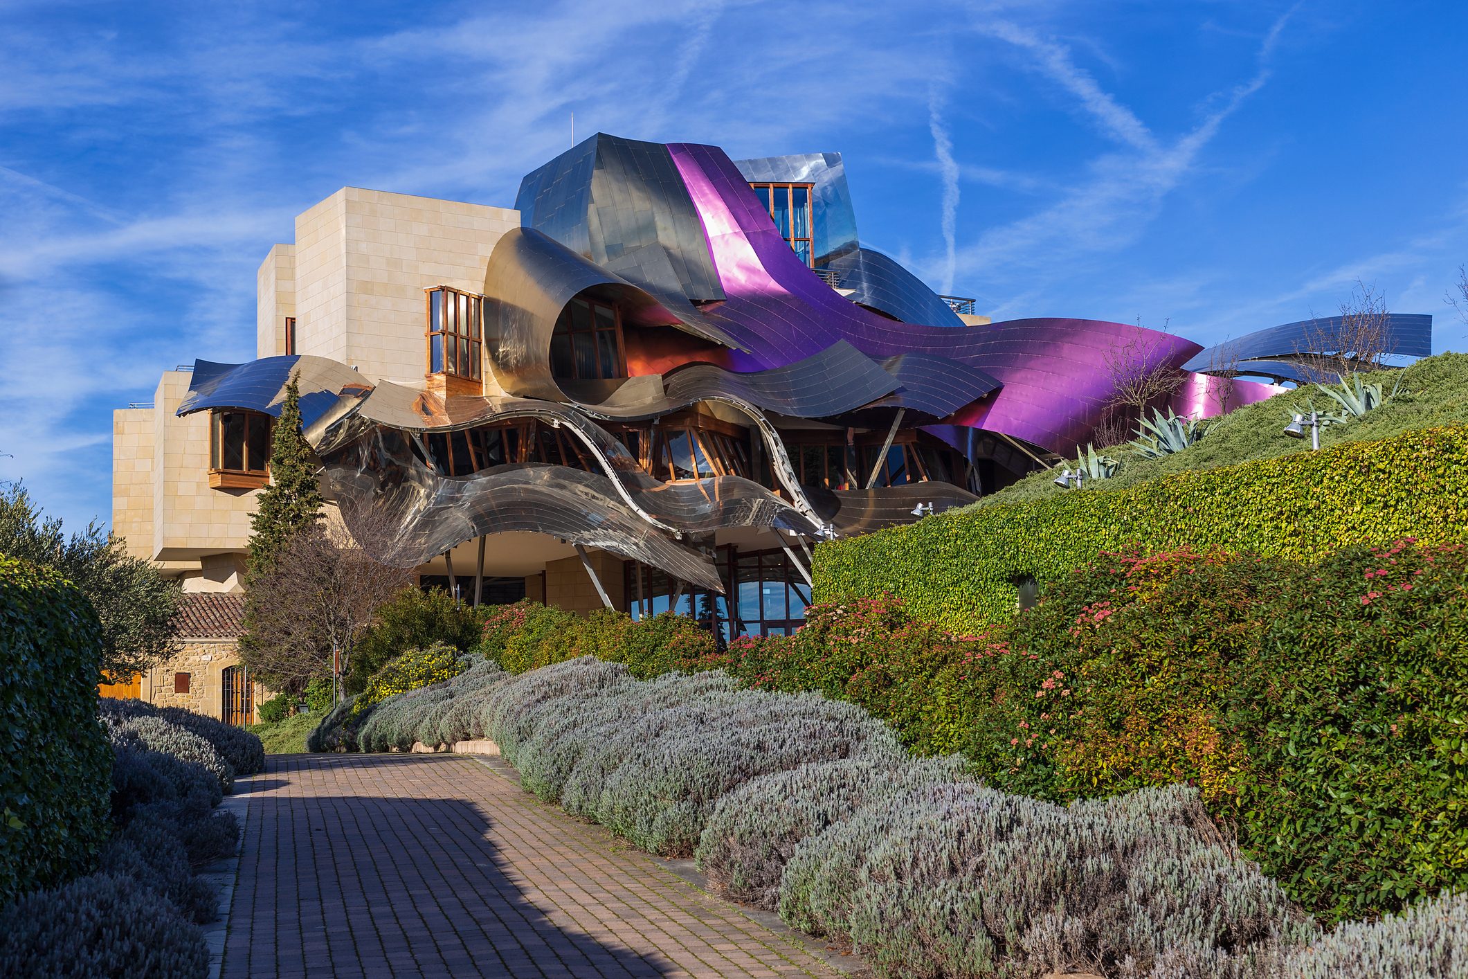
<svg viewBox="0 0 1468 979">
<path fill-rule="evenodd" d="M 0 906 L 85 873 L 107 835 L 101 625 L 50 569 L 0 556 Z"/>
</svg>

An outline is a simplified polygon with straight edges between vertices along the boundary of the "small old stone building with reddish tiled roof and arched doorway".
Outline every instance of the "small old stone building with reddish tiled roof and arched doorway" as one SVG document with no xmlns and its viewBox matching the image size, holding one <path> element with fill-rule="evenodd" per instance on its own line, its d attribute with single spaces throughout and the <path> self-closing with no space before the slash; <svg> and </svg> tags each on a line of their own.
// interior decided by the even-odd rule
<svg viewBox="0 0 1468 979">
<path fill-rule="evenodd" d="M 145 672 L 135 696 L 160 707 L 186 707 L 229 724 L 254 724 L 264 687 L 239 662 L 245 596 L 184 596 L 175 622 L 178 652 Z"/>
</svg>

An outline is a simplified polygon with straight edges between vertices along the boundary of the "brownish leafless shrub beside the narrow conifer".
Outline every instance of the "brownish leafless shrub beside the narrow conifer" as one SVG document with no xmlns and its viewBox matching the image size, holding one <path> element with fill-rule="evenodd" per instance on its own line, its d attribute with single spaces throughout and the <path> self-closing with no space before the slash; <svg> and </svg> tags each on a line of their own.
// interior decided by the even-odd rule
<svg viewBox="0 0 1468 979">
<path fill-rule="evenodd" d="M 254 628 L 241 643 L 250 669 L 292 693 L 332 675 L 332 650 L 346 672 L 377 608 L 414 581 L 410 568 L 395 567 L 395 531 L 370 502 L 344 502 L 295 534 L 252 584 Z"/>
</svg>

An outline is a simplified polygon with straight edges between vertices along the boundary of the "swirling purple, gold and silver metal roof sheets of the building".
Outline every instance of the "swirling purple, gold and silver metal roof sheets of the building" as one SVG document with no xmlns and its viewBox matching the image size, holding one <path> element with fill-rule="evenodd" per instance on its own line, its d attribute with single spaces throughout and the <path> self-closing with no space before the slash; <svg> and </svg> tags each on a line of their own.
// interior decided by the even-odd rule
<svg viewBox="0 0 1468 979">
<path fill-rule="evenodd" d="M 750 181 L 813 185 L 813 260 L 840 274 L 850 298 L 791 251 Z M 1023 473 L 1094 436 L 1116 395 L 1104 364 L 1120 346 L 1144 351 L 1144 367 L 1193 365 L 1210 354 L 1177 336 L 1098 320 L 963 326 L 916 276 L 860 248 L 840 154 L 734 164 L 716 147 L 597 134 L 530 173 L 517 207 L 526 228 L 498 241 L 484 273 L 482 393 L 445 399 L 320 357 L 200 361 L 179 414 L 279 414 L 297 374 L 305 436 L 329 495 L 371 496 L 399 528 L 395 561 L 421 564 L 482 534 L 537 531 L 722 590 L 711 558 L 690 540 L 728 528 L 812 537 L 825 523 L 838 534 L 866 533 L 976 499 L 940 481 L 802 486 L 781 426 L 803 429 L 790 433 L 793 445 L 829 442 L 840 458 L 843 446 L 881 437 L 890 426 L 893 433 L 920 427 L 969 459 Z M 578 296 L 617 305 L 619 358 L 625 342 L 633 376 L 553 376 L 555 327 Z M 1430 348 L 1430 317 L 1417 319 L 1427 321 Z M 1421 348 L 1422 324 L 1396 320 L 1393 352 Z M 1254 351 L 1245 360 L 1277 363 L 1293 349 L 1280 345 L 1296 335 L 1276 327 L 1245 338 Z M 1208 415 L 1277 390 L 1186 373 L 1173 407 Z M 694 407 L 718 420 L 719 437 L 737 439 L 731 454 L 749 455 L 741 467 L 715 471 L 760 476 L 762 462 L 784 499 L 740 476 L 664 481 L 639 465 L 625 445 L 646 448 L 633 439 L 653 437 L 661 420 Z M 688 424 L 688 415 L 680 418 L 669 427 Z M 511 456 L 504 433 L 512 424 L 533 432 L 537 446 L 542 436 L 556 446 L 564 436 L 574 452 L 501 464 Z M 501 434 L 479 432 L 484 427 Z M 470 449 L 468 465 L 452 449 L 443 455 L 455 437 L 487 446 L 492 436 L 499 448 L 480 456 Z M 835 464 L 800 458 L 812 483 L 853 481 L 809 468 Z M 953 468 L 935 473 L 976 478 L 978 470 L 964 477 Z M 669 465 L 665 474 L 677 473 Z"/>
</svg>

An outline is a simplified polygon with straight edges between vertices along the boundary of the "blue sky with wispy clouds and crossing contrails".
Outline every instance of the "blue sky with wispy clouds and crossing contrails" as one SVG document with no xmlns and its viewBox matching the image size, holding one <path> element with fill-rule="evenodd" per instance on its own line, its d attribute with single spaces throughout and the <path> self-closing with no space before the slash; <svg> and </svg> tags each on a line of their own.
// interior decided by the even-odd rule
<svg viewBox="0 0 1468 979">
<path fill-rule="evenodd" d="M 995 319 L 1208 343 L 1359 277 L 1468 349 L 1465 35 L 1447 0 L 0 0 L 0 480 L 106 521 L 112 410 L 254 355 L 298 211 L 344 185 L 508 207 L 573 112 L 838 150 L 863 241 Z"/>
</svg>

